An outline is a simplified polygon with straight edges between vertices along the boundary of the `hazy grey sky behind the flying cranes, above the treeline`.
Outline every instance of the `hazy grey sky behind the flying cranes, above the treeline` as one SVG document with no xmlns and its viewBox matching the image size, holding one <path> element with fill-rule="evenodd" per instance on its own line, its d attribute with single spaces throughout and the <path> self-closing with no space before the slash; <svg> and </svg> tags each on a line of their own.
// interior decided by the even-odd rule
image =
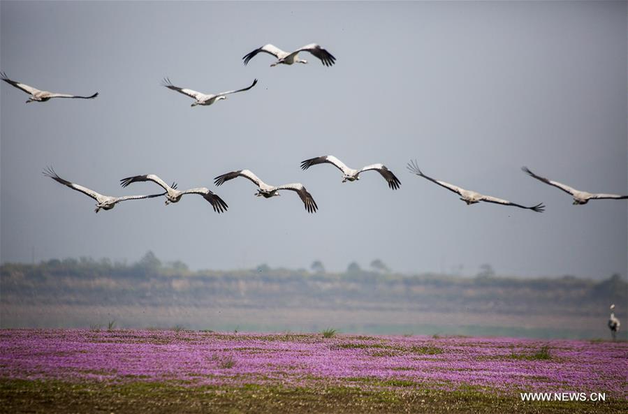
<svg viewBox="0 0 628 414">
<path fill-rule="evenodd" d="M 2 1 L 1 69 L 40 89 L 100 96 L 25 104 L 2 83 L 1 260 L 92 256 L 136 260 L 152 250 L 193 268 L 268 263 L 341 270 L 381 258 L 402 272 L 607 277 L 626 274 L 628 203 L 573 206 L 527 177 L 626 193 L 627 3 L 420 2 L 17 2 Z M 270 68 L 265 43 L 316 42 L 326 68 Z M 160 86 L 215 92 L 254 89 L 210 107 Z M 377 172 L 341 183 L 334 154 Z M 524 205 L 467 206 L 405 169 Z M 229 205 L 215 214 L 196 195 L 176 205 L 143 200 L 94 214 L 94 201 L 43 177 L 108 195 L 150 193 L 119 179 L 155 173 L 180 188 L 207 186 Z M 319 205 L 293 193 L 254 197 L 249 168 L 270 184 L 302 182 Z"/>
</svg>

